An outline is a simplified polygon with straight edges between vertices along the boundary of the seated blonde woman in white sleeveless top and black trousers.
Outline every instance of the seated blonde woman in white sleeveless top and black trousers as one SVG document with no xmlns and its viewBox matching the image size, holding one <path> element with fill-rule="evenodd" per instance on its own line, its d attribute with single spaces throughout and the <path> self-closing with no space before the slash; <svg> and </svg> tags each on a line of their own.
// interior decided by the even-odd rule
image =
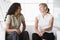
<svg viewBox="0 0 60 40">
<path fill-rule="evenodd" d="M 53 16 L 49 13 L 49 8 L 46 3 L 39 4 L 41 15 L 36 17 L 35 31 L 32 34 L 33 40 L 54 40 L 53 29 Z"/>
</svg>

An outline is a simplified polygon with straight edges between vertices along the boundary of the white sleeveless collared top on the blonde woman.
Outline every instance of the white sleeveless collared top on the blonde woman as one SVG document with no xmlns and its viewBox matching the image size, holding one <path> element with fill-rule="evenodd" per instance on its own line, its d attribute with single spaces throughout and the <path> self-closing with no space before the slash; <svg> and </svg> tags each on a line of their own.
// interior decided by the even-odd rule
<svg viewBox="0 0 60 40">
<path fill-rule="evenodd" d="M 39 21 L 38 29 L 41 30 L 41 29 L 48 28 L 49 27 L 49 21 L 52 17 L 53 16 L 51 14 L 47 14 L 44 17 L 42 15 L 37 16 L 38 21 Z M 52 32 L 52 30 L 48 31 L 48 32 Z"/>
</svg>

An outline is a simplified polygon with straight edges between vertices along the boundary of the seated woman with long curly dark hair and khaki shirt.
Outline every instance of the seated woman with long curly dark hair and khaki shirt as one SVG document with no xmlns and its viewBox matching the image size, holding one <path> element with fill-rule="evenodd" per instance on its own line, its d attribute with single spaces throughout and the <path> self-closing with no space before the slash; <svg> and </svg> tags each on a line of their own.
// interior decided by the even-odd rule
<svg viewBox="0 0 60 40">
<path fill-rule="evenodd" d="M 29 40 L 28 32 L 25 31 L 26 24 L 23 14 L 21 14 L 20 3 L 13 3 L 5 17 L 7 40 Z M 23 30 L 19 28 L 23 24 Z"/>
</svg>

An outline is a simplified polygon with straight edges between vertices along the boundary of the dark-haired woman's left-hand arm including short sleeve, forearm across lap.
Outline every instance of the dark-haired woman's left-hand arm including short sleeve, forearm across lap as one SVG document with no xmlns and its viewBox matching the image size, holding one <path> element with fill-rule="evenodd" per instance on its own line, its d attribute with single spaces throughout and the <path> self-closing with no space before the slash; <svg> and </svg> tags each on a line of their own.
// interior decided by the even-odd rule
<svg viewBox="0 0 60 40">
<path fill-rule="evenodd" d="M 11 27 L 10 23 L 11 23 L 11 16 L 7 15 L 7 18 L 6 18 L 6 31 L 7 32 L 14 32 L 14 31 L 16 31 L 17 33 L 19 33 L 20 32 L 19 29 L 11 29 L 10 28 Z"/>
</svg>

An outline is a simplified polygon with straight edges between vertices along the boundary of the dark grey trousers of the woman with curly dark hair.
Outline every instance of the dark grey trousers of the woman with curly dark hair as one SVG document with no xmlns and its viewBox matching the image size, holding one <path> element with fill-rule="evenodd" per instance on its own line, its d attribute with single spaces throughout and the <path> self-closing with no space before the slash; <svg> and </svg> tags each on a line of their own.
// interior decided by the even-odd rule
<svg viewBox="0 0 60 40">
<path fill-rule="evenodd" d="M 24 31 L 21 34 L 17 34 L 17 32 L 12 32 L 7 35 L 6 40 L 29 40 L 29 34 L 27 31 Z"/>
</svg>

